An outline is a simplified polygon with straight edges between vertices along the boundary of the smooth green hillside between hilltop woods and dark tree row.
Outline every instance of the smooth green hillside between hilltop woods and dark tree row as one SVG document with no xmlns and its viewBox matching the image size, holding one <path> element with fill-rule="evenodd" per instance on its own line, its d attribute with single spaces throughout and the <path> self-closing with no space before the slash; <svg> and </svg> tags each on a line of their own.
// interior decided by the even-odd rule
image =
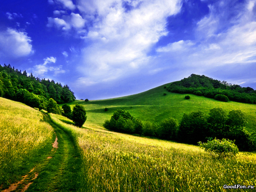
<svg viewBox="0 0 256 192">
<path fill-rule="evenodd" d="M 88 127 L 102 127 L 105 119 L 110 119 L 113 112 L 118 109 L 129 111 L 142 122 L 160 122 L 170 117 L 181 120 L 184 112 L 201 110 L 208 114 L 210 108 L 214 107 L 221 107 L 226 111 L 240 109 L 249 118 L 247 130 L 256 131 L 256 105 L 232 101 L 221 102 L 193 94 L 170 93 L 164 89 L 164 86 L 126 97 L 89 102 L 75 101 L 70 105 L 79 103 L 85 106 L 88 118 L 84 126 Z M 185 95 L 190 95 L 191 99 L 184 99 Z M 108 108 L 108 111 L 105 111 L 105 108 Z"/>
</svg>

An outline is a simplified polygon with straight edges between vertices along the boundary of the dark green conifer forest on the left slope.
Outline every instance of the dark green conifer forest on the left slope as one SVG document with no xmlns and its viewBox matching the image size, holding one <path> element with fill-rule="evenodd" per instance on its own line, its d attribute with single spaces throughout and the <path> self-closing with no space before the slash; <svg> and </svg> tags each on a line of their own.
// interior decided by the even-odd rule
<svg viewBox="0 0 256 192">
<path fill-rule="evenodd" d="M 26 70 L 15 69 L 10 64 L 0 65 L 0 97 L 25 103 L 28 106 L 46 110 L 49 99 L 54 99 L 58 104 L 75 101 L 74 93 L 68 85 L 40 80 Z"/>
</svg>

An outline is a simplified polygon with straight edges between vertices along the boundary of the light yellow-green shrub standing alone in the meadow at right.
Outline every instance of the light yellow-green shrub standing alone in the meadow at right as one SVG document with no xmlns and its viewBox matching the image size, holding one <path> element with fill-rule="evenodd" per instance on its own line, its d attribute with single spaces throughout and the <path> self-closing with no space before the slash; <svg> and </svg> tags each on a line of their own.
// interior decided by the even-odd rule
<svg viewBox="0 0 256 192">
<path fill-rule="evenodd" d="M 199 141 L 198 144 L 205 152 L 217 158 L 236 157 L 239 151 L 237 145 L 232 140 L 219 140 L 215 138 L 212 141 L 207 141 L 207 143 Z"/>
</svg>

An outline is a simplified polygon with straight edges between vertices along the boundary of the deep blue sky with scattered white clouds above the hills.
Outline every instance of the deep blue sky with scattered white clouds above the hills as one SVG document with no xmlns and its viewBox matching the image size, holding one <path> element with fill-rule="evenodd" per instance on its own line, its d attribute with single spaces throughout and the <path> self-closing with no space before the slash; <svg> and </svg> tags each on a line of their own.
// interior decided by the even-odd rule
<svg viewBox="0 0 256 192">
<path fill-rule="evenodd" d="M 141 93 L 200 74 L 256 89 L 256 0 L 8 0 L 0 64 L 77 99 Z"/>
</svg>

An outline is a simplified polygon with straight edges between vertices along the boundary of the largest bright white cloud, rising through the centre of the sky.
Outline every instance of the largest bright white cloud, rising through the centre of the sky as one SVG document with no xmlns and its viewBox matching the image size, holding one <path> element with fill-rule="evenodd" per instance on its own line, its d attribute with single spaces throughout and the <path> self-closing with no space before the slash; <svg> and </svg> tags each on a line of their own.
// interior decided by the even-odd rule
<svg viewBox="0 0 256 192">
<path fill-rule="evenodd" d="M 180 10 L 177 0 L 125 2 L 129 11 L 121 0 L 78 1 L 81 14 L 93 23 L 85 40 L 94 43 L 82 50 L 79 68 L 90 82 L 113 81 L 146 67 L 148 51 L 168 34 L 167 17 Z"/>
</svg>

